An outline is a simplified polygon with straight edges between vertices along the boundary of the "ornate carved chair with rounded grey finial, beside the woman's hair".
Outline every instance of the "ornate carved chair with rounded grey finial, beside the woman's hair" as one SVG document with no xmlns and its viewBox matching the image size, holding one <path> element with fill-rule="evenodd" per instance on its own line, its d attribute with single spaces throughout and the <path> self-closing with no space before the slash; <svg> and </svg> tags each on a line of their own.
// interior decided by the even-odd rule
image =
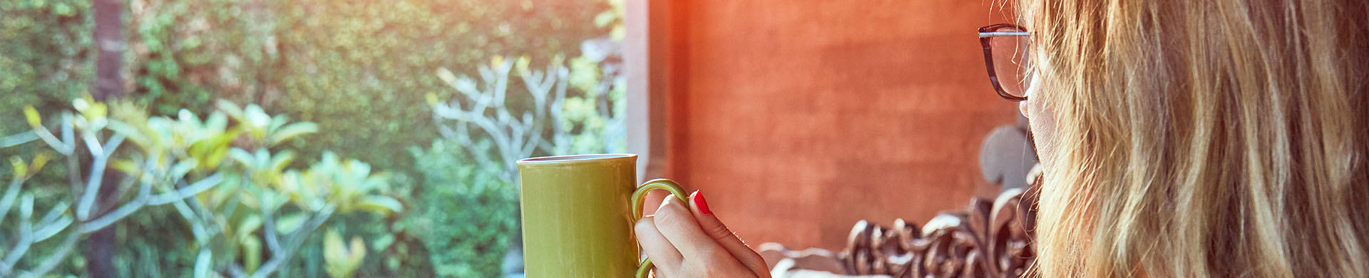
<svg viewBox="0 0 1369 278">
<path fill-rule="evenodd" d="M 984 178 L 1002 188 L 997 199 L 973 199 L 964 211 L 942 212 L 923 226 L 904 219 L 895 219 L 893 226 L 860 220 L 852 227 L 846 248 L 836 253 L 763 244 L 761 256 L 776 277 L 1023 277 L 1036 255 L 1032 231 L 1039 188 L 1039 168 L 1034 167 L 1036 157 L 1029 151 L 1024 122 L 994 130 L 980 151 Z M 1023 156 L 1028 152 L 1029 157 Z M 1012 181 L 1016 178 L 1023 181 Z M 797 270 L 808 274 L 784 275 Z"/>
</svg>

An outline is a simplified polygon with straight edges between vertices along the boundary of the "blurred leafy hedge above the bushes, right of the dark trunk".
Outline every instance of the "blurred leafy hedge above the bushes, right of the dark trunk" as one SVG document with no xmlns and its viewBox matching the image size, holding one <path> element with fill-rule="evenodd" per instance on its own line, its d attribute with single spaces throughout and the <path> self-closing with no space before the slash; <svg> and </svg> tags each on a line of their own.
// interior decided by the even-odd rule
<svg viewBox="0 0 1369 278">
<path fill-rule="evenodd" d="M 435 136 L 423 94 L 445 92 L 427 73 L 472 71 L 494 53 L 575 55 L 612 29 L 594 25 L 605 10 L 601 0 L 148 1 L 130 14 L 134 97 L 162 115 L 207 111 L 216 97 L 261 103 L 319 125 L 309 142 L 290 142 L 305 156 L 327 147 L 408 167 L 398 149 Z"/>
</svg>

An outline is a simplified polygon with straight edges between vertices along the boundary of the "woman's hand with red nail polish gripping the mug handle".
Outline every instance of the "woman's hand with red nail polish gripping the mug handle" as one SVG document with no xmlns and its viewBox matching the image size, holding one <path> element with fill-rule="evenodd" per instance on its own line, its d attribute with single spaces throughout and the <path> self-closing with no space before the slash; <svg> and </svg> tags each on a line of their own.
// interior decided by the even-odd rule
<svg viewBox="0 0 1369 278">
<path fill-rule="evenodd" d="M 676 197 L 665 197 L 656 215 L 637 222 L 637 240 L 656 264 L 656 277 L 771 277 L 761 255 L 717 220 L 702 194 L 694 192 L 689 200 L 693 210 Z"/>
</svg>

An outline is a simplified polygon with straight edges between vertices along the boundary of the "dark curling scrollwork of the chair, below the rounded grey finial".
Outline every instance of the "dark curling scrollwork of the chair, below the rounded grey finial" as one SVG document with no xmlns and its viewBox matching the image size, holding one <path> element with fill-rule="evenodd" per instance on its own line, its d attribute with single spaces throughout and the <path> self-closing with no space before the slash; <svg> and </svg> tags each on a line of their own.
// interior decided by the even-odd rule
<svg viewBox="0 0 1369 278">
<path fill-rule="evenodd" d="M 1036 212 L 1029 197 L 1027 190 L 1008 189 L 994 201 L 975 199 L 968 210 L 942 212 L 921 227 L 904 219 L 890 227 L 861 220 L 836 259 L 846 274 L 1021 277 L 1035 259 Z"/>
</svg>

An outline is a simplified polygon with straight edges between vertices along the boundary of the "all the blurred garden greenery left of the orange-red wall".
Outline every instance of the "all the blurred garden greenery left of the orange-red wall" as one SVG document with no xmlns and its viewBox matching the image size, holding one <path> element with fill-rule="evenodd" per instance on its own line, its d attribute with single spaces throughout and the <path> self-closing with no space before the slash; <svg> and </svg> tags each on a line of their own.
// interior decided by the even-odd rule
<svg viewBox="0 0 1369 278">
<path fill-rule="evenodd" d="M 0 218 L 0 255 L 18 255 L 0 277 L 516 275 L 512 159 L 623 148 L 620 0 L 119 3 L 125 93 L 99 101 L 96 4 L 0 0 L 0 155 L 18 162 L 0 181 L 52 227 L 75 219 L 25 252 L 27 218 Z M 88 201 L 103 168 L 90 142 L 37 137 L 64 125 L 129 138 L 94 215 L 57 205 Z M 141 204 L 144 179 L 199 190 L 115 219 L 99 252 L 110 240 L 84 227 Z M 0 215 L 23 215 L 10 203 Z M 31 273 L 67 236 L 74 251 Z"/>
</svg>

